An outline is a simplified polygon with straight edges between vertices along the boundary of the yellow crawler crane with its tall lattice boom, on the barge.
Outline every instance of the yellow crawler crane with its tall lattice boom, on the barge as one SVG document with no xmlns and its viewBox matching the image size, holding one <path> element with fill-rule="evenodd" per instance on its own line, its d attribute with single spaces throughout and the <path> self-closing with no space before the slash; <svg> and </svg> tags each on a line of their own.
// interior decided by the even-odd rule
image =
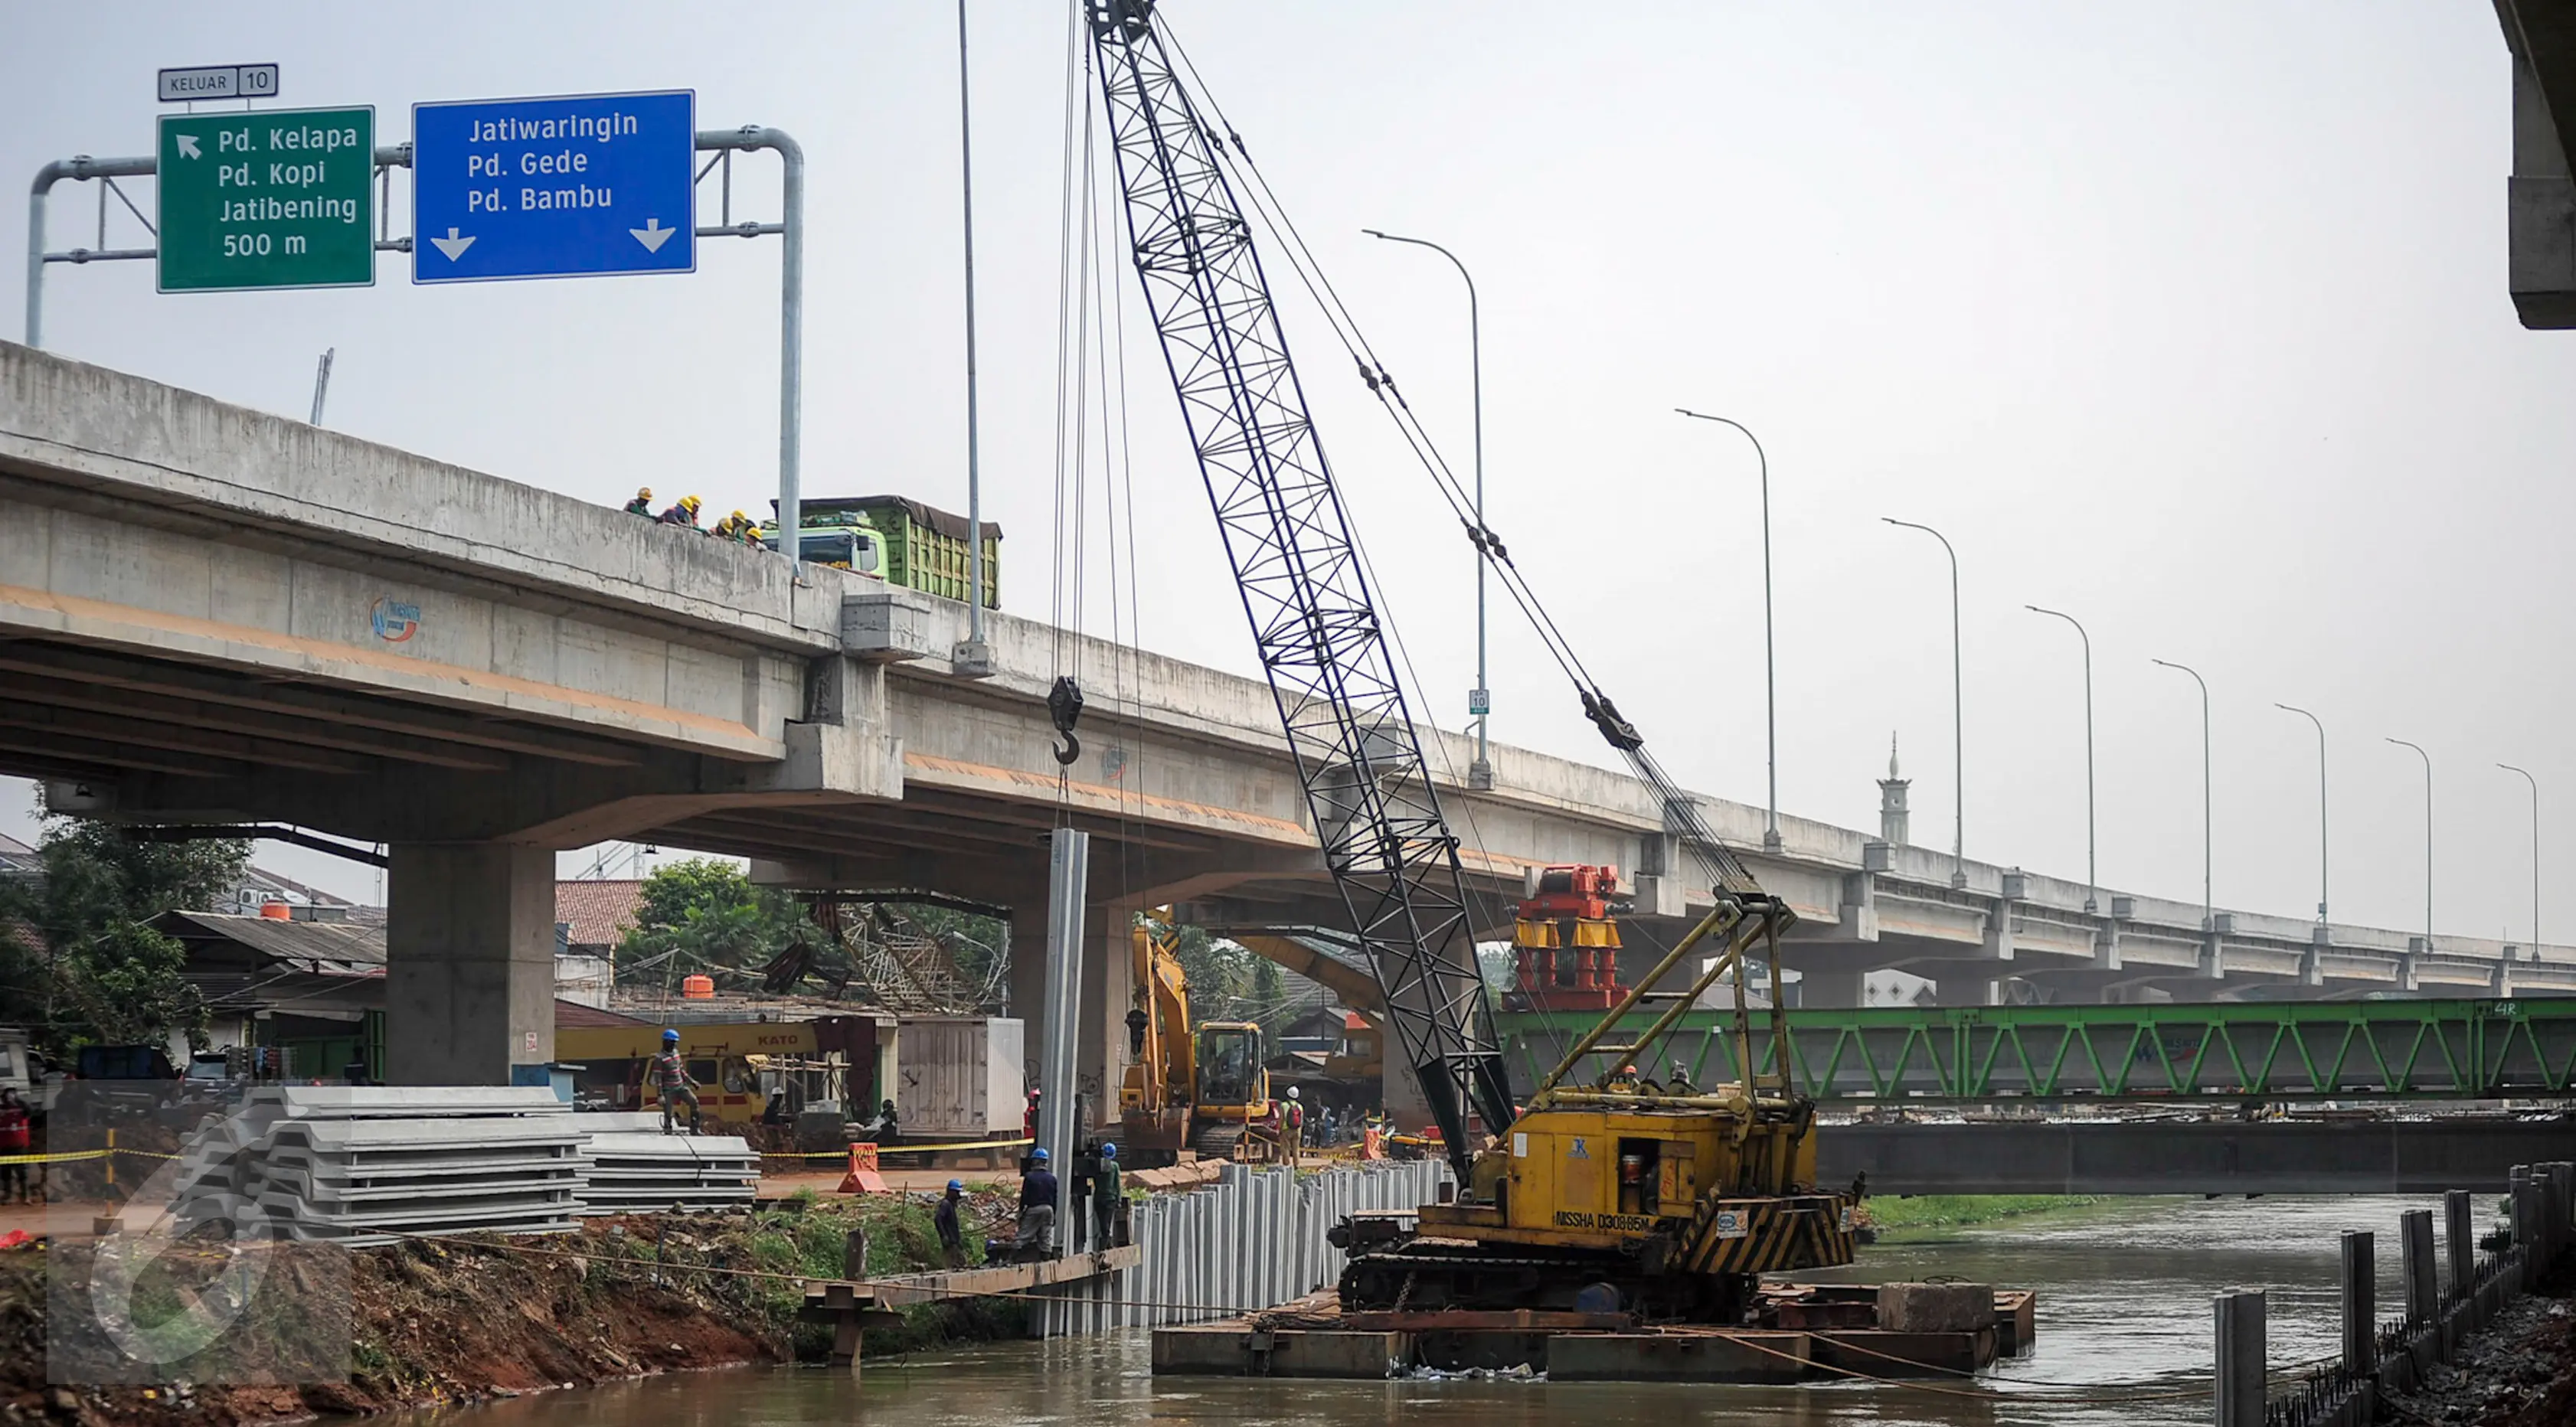
<svg viewBox="0 0 2576 1427">
<path fill-rule="evenodd" d="M 1744 981 L 1757 948 L 1772 969 L 1772 1043 L 1788 1046 L 1777 943 L 1795 917 L 1718 845 L 1636 726 L 1584 677 L 1584 714 L 1654 788 L 1713 907 L 1566 1051 L 1525 1110 L 1512 1105 L 1458 837 L 1236 201 L 1239 183 L 1267 185 L 1224 118 L 1200 108 L 1188 64 L 1175 70 L 1154 0 L 1087 0 L 1084 18 L 1136 276 L 1324 865 L 1461 1185 L 1455 1203 L 1422 1205 L 1419 1229 L 1355 1218 L 1334 1231 L 1352 1249 L 1345 1306 L 1582 1303 L 1739 1321 L 1757 1275 L 1850 1262 L 1852 1200 L 1814 1187 L 1816 1113 L 1790 1079 L 1793 1056 L 1759 1072 L 1749 1054 Z M 1267 211 L 1257 216 L 1267 222 Z M 1363 376 L 1376 389 L 1383 371 L 1370 373 L 1363 358 Z M 1468 536 L 1533 608 L 1502 538 L 1481 520 Z M 1662 989 L 1692 956 L 1705 966 Z M 1659 1082 L 1664 1038 L 1721 981 L 1734 994 L 1744 1079 L 1705 1090 Z M 1649 1007 L 1662 1010 L 1641 1033 L 1618 1030 Z M 1582 1079 L 1584 1061 L 1605 1069 Z"/>
</svg>

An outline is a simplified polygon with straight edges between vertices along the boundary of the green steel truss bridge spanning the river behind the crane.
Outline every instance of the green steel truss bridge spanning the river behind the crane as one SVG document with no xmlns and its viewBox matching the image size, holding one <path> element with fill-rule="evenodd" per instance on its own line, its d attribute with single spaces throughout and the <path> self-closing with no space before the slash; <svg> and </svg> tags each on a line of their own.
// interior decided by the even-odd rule
<svg viewBox="0 0 2576 1427">
<path fill-rule="evenodd" d="M 1515 1092 L 1597 1020 L 1502 1012 Z M 1638 1028 L 1649 1015 L 1631 1017 Z M 1795 1084 L 1829 1108 L 1883 1102 L 2246 1102 L 2576 1097 L 2576 999 L 2388 999 L 1793 1010 Z M 1739 1079 L 1721 1012 L 1690 1012 L 1664 1046 L 1690 1084 Z M 1767 1074 L 1775 1046 L 1752 1033 Z M 1589 1056 L 1574 1079 L 1613 1066 Z"/>
</svg>

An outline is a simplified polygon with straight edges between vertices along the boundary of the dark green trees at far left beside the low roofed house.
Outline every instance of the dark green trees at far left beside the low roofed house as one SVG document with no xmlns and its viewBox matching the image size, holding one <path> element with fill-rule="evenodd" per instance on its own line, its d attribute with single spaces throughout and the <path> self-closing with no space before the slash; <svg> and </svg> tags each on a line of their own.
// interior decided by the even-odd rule
<svg viewBox="0 0 2576 1427">
<path fill-rule="evenodd" d="M 36 853 L 41 884 L 0 884 L 0 1005 L 36 1010 L 36 1048 L 204 1043 L 185 950 L 147 922 L 222 907 L 250 842 L 137 842 L 116 824 L 46 817 Z"/>
</svg>

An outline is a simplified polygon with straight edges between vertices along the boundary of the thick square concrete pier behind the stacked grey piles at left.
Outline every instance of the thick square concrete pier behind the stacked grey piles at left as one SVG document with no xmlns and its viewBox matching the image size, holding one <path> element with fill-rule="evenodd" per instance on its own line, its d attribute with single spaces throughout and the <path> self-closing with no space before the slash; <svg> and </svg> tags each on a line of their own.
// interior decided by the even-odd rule
<svg viewBox="0 0 2576 1427">
<path fill-rule="evenodd" d="M 554 853 L 394 842 L 386 865 L 384 1077 L 510 1084 L 554 1059 Z"/>
</svg>

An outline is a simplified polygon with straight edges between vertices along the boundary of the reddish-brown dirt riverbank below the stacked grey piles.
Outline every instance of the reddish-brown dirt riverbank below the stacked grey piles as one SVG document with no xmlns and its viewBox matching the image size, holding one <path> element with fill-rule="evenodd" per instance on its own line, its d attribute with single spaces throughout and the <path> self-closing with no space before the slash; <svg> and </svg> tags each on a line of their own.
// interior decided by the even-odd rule
<svg viewBox="0 0 2576 1427">
<path fill-rule="evenodd" d="M 994 1221 L 997 1208 L 979 1203 L 969 1218 Z M 737 1363 L 819 1360 L 829 1329 L 796 1321 L 801 1280 L 842 1275 L 850 1229 L 868 1229 L 871 1275 L 935 1267 L 927 1200 L 914 1195 L 788 1200 L 757 1216 L 603 1218 L 580 1234 L 544 1239 L 415 1239 L 358 1249 L 345 1267 L 332 1260 L 327 1288 L 289 1288 L 340 1293 L 345 1285 L 345 1316 L 299 1316 L 307 1337 L 327 1327 L 335 1357 L 345 1337 L 345 1375 L 325 1373 L 327 1381 L 304 1386 L 46 1386 L 46 1275 L 88 1283 L 95 1249 L 5 1252 L 0 1419 L 232 1427 L 464 1404 Z M 974 1226 L 969 1239 L 979 1239 Z M 206 1257 L 222 1262 L 222 1254 Z M 185 1275 L 185 1254 L 170 1260 L 137 1283 L 137 1321 L 160 1301 L 152 1272 Z M 206 1283 L 214 1275 L 191 1288 Z M 1020 1309 L 1007 1301 L 938 1303 L 909 1309 L 902 1329 L 873 1329 L 868 1352 L 1018 1329 Z"/>
</svg>

